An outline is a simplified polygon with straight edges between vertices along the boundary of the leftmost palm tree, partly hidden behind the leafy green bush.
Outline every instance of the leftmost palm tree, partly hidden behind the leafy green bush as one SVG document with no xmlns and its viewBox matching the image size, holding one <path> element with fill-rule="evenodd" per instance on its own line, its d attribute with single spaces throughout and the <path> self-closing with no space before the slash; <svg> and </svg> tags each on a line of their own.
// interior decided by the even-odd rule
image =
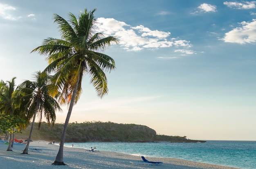
<svg viewBox="0 0 256 169">
<path fill-rule="evenodd" d="M 18 106 L 15 104 L 15 77 L 12 78 L 11 81 L 4 82 L 1 80 L 0 82 L 0 112 L 4 112 L 6 115 L 16 116 L 18 114 Z M 7 151 L 12 151 L 11 147 L 13 147 L 14 141 L 14 129 L 13 131 L 9 131 L 10 138 L 9 138 L 9 146 Z M 12 134 L 13 133 L 13 139 Z M 12 140 L 12 141 L 11 141 Z"/>
</svg>

